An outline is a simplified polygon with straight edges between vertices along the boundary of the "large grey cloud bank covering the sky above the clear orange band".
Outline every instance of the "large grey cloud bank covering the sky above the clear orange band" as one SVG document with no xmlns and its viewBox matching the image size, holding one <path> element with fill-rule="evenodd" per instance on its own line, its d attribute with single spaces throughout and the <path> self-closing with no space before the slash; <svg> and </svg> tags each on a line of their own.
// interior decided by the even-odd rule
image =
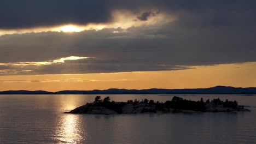
<svg viewBox="0 0 256 144">
<path fill-rule="evenodd" d="M 107 27 L 78 33 L 2 35 L 0 74 L 158 71 L 256 62 L 255 4 L 235 0 L 3 1 L 0 29 L 4 31 L 69 23 Z M 70 56 L 83 58 L 61 59 Z"/>
</svg>

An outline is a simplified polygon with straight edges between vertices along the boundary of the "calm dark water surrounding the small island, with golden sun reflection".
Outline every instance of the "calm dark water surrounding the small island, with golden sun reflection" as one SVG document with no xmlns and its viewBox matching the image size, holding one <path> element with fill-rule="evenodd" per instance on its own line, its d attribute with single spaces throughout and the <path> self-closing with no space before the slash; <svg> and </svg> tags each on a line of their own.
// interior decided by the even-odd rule
<svg viewBox="0 0 256 144">
<path fill-rule="evenodd" d="M 256 108 L 247 113 L 72 115 L 96 95 L 0 95 L 0 143 L 256 143 Z M 101 95 L 115 101 L 171 100 L 174 95 Z M 256 106 L 256 96 L 220 98 Z"/>
</svg>

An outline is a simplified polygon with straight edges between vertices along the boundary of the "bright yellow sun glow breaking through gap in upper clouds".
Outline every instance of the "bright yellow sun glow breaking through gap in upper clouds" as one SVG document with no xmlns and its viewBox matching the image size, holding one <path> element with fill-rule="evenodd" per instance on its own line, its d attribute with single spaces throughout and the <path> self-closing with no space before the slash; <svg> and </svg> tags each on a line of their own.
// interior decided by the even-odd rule
<svg viewBox="0 0 256 144">
<path fill-rule="evenodd" d="M 146 10 L 144 10 L 146 11 Z M 144 12 L 142 10 L 141 13 Z M 0 29 L 0 35 L 5 34 L 23 34 L 23 33 L 41 33 L 41 32 L 64 32 L 74 33 L 82 32 L 90 29 L 96 31 L 103 28 L 123 28 L 127 29 L 130 27 L 141 27 L 141 26 L 153 26 L 162 25 L 164 23 L 172 22 L 176 20 L 176 16 L 159 13 L 158 10 L 153 11 L 153 15 L 147 17 L 147 20 L 138 20 L 138 14 L 132 13 L 131 11 L 115 10 L 112 13 L 113 20 L 107 23 L 88 23 L 86 25 L 77 25 L 75 23 L 69 23 L 66 25 L 55 26 L 55 27 L 34 27 L 27 29 Z"/>
</svg>

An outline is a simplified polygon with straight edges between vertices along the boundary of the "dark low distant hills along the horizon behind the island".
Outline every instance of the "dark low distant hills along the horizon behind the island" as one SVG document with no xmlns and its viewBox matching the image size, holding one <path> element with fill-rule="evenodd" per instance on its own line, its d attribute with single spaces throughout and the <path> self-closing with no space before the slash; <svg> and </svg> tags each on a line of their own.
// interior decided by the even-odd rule
<svg viewBox="0 0 256 144">
<path fill-rule="evenodd" d="M 92 91 L 3 91 L 0 94 L 256 94 L 255 87 L 235 88 L 226 86 L 216 86 L 211 88 L 193 88 L 193 89 L 116 89 Z"/>
</svg>

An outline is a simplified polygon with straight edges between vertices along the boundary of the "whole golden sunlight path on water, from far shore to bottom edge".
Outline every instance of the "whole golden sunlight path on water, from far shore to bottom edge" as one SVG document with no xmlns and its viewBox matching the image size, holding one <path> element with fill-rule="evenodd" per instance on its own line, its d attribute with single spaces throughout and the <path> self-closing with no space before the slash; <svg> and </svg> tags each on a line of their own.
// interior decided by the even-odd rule
<svg viewBox="0 0 256 144">
<path fill-rule="evenodd" d="M 58 112 L 61 113 L 71 111 L 78 105 L 83 105 L 83 101 L 92 101 L 92 99 L 87 98 L 81 101 L 79 97 L 68 97 L 68 95 L 59 96 L 62 103 Z M 84 121 L 81 115 L 62 113 L 56 121 L 54 139 L 57 143 L 82 143 L 90 139 L 87 127 L 88 122 Z"/>
</svg>

